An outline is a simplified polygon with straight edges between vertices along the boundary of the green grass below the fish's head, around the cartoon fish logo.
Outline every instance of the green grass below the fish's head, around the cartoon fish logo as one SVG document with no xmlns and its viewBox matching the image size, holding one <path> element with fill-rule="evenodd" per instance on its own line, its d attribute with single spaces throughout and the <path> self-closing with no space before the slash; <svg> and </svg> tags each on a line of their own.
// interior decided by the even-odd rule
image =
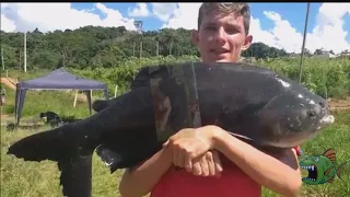
<svg viewBox="0 0 350 197">
<path fill-rule="evenodd" d="M 327 149 L 334 149 L 337 157 L 336 167 L 339 163 L 350 159 L 350 111 L 335 112 L 336 123 L 316 136 L 315 139 L 302 144 L 302 149 L 307 155 L 318 155 Z M 301 158 L 302 159 L 302 158 Z M 303 175 L 305 172 L 302 171 Z M 307 174 L 307 173 L 306 173 Z M 329 184 L 303 185 L 300 196 L 305 197 L 345 197 L 350 194 L 350 160 L 341 172 L 341 178 L 335 178 Z M 277 196 L 264 189 L 264 196 Z"/>
</svg>

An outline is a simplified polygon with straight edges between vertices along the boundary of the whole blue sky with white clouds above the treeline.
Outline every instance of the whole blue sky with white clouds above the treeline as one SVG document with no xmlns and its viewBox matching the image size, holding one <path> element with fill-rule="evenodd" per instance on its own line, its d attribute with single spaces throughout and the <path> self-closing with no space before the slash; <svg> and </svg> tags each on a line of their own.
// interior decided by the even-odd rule
<svg viewBox="0 0 350 197">
<path fill-rule="evenodd" d="M 1 3 L 5 32 L 75 30 L 85 25 L 126 26 L 142 20 L 143 30 L 196 28 L 199 3 Z M 138 14 L 129 11 L 139 8 Z M 300 53 L 306 3 L 250 3 L 254 42 Z M 306 48 L 350 49 L 350 3 L 311 3 Z"/>
</svg>

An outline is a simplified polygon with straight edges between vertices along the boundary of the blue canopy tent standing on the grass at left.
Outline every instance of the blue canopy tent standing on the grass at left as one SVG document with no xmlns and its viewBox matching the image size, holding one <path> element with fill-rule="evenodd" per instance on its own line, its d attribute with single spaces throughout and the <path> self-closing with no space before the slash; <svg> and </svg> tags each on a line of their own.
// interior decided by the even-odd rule
<svg viewBox="0 0 350 197">
<path fill-rule="evenodd" d="M 108 99 L 108 89 L 106 83 L 98 82 L 95 80 L 78 78 L 65 70 L 59 68 L 48 73 L 47 76 L 22 81 L 16 84 L 15 92 L 15 123 L 20 123 L 25 93 L 27 90 L 81 90 L 84 91 L 88 97 L 89 111 L 92 114 L 91 106 L 91 91 L 103 90 L 105 99 Z"/>
</svg>

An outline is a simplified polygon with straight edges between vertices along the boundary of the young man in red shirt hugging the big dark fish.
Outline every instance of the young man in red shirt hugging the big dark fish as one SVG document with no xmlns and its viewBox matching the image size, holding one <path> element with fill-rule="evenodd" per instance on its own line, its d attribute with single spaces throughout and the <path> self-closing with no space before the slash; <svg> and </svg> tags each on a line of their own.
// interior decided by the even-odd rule
<svg viewBox="0 0 350 197">
<path fill-rule="evenodd" d="M 236 62 L 252 44 L 249 19 L 246 3 L 203 3 L 192 32 L 201 60 Z M 257 197 L 265 186 L 296 196 L 301 174 L 295 152 L 271 157 L 217 126 L 183 129 L 151 159 L 127 170 L 119 190 L 125 197 L 150 192 L 151 197 Z"/>
</svg>

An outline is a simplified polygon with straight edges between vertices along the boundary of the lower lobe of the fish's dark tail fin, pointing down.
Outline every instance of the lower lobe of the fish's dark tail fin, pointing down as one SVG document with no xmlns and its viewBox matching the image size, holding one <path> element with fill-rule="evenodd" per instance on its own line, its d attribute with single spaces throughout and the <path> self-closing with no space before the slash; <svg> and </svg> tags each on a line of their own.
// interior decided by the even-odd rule
<svg viewBox="0 0 350 197">
<path fill-rule="evenodd" d="M 63 196 L 91 197 L 92 154 L 72 158 L 57 163 Z"/>
</svg>

